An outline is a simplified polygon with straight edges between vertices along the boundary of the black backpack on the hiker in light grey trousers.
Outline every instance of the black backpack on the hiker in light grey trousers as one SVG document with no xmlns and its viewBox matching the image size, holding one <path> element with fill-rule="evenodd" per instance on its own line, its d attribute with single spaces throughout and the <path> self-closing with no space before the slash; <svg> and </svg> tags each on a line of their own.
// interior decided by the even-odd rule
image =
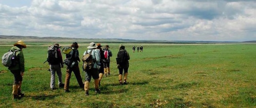
<svg viewBox="0 0 256 108">
<path fill-rule="evenodd" d="M 49 46 L 48 48 L 47 62 L 50 64 L 58 64 L 57 46 Z"/>
</svg>

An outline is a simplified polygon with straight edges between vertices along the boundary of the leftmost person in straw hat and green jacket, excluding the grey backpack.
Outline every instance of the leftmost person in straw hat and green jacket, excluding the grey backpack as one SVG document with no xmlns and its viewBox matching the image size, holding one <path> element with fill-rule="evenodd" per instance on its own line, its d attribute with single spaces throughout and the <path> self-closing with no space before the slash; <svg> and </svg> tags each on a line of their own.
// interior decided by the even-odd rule
<svg viewBox="0 0 256 108">
<path fill-rule="evenodd" d="M 14 46 L 11 48 L 12 52 L 16 51 L 14 57 L 15 65 L 8 67 L 8 69 L 14 75 L 14 85 L 12 86 L 13 99 L 20 99 L 24 96 L 24 93 L 21 92 L 21 85 L 23 79 L 22 76 L 24 75 L 25 71 L 25 60 L 22 49 L 26 47 L 26 44 L 20 40 L 14 43 Z"/>
</svg>

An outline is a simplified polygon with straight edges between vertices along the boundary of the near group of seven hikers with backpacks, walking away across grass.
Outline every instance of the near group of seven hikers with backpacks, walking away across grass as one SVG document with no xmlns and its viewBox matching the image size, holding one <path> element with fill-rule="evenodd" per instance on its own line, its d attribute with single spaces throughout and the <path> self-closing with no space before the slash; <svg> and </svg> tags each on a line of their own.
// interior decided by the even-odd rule
<svg viewBox="0 0 256 108">
<path fill-rule="evenodd" d="M 106 45 L 103 49 L 101 44 L 91 42 L 84 51 L 82 62 L 83 71 L 85 71 L 85 81 L 83 82 L 79 62 L 81 62 L 78 51 L 78 43 L 73 42 L 70 47 L 64 47 L 60 50 L 60 45 L 54 43 L 48 47 L 48 57 L 47 62 L 50 66 L 50 88 L 55 90 L 55 73 L 58 76 L 59 88 L 64 88 L 64 92 L 71 92 L 69 90 L 69 82 L 71 78 L 72 71 L 75 74 L 76 80 L 80 86 L 85 91 L 85 96 L 89 95 L 89 88 L 91 78 L 94 79 L 95 93 L 99 94 L 101 91 L 99 89 L 100 82 L 103 76 L 110 75 L 110 57 L 112 57 L 112 52 L 109 50 L 109 45 Z M 23 56 L 23 48 L 26 48 L 26 44 L 23 41 L 18 41 L 14 43 L 14 46 L 5 53 L 2 57 L 2 64 L 11 71 L 14 75 L 14 85 L 12 86 L 12 95 L 14 99 L 20 99 L 24 96 L 21 92 L 22 76 L 25 71 L 25 60 Z M 65 59 L 63 61 L 62 54 L 65 54 Z M 128 68 L 129 68 L 129 53 L 125 50 L 125 46 L 121 44 L 119 46 L 119 51 L 116 57 L 117 68 L 119 70 L 118 81 L 120 85 L 127 84 Z M 62 72 L 61 68 L 67 66 L 65 83 L 62 82 Z"/>
</svg>

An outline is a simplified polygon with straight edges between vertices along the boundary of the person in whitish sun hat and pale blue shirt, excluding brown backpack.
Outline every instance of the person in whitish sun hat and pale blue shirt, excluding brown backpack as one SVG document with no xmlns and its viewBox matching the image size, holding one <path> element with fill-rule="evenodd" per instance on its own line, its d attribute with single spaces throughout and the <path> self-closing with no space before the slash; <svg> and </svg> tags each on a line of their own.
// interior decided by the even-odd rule
<svg viewBox="0 0 256 108">
<path fill-rule="evenodd" d="M 91 77 L 93 77 L 93 79 L 94 79 L 95 93 L 96 94 L 100 93 L 100 90 L 99 90 L 99 70 L 101 68 L 100 50 L 96 49 L 97 46 L 95 45 L 94 42 L 91 42 L 87 48 L 88 48 L 88 50 L 84 51 L 83 55 L 91 53 L 91 56 L 93 59 L 93 63 L 92 63 L 93 68 L 91 68 L 91 70 L 86 71 L 86 73 L 85 73 L 85 82 L 84 82 L 85 96 L 89 95 Z"/>
</svg>

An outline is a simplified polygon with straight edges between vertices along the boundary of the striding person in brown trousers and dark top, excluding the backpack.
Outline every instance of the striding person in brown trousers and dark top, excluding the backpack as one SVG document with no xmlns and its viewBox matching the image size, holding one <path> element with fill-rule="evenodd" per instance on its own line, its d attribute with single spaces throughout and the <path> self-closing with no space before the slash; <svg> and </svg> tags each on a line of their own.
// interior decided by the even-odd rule
<svg viewBox="0 0 256 108">
<path fill-rule="evenodd" d="M 80 62 L 78 47 L 79 47 L 78 43 L 73 42 L 71 45 L 72 50 L 70 51 L 69 54 L 66 54 L 66 58 L 65 58 L 64 62 L 69 62 L 69 63 L 65 63 L 65 64 L 69 64 L 69 65 L 67 66 L 67 71 L 66 71 L 64 92 L 70 92 L 69 91 L 69 81 L 71 78 L 72 71 L 74 72 L 74 74 L 76 76 L 76 80 L 77 80 L 79 86 L 81 88 L 84 88 L 84 84 L 83 84 L 82 77 L 80 75 L 80 70 L 78 67 L 78 62 Z"/>
</svg>

